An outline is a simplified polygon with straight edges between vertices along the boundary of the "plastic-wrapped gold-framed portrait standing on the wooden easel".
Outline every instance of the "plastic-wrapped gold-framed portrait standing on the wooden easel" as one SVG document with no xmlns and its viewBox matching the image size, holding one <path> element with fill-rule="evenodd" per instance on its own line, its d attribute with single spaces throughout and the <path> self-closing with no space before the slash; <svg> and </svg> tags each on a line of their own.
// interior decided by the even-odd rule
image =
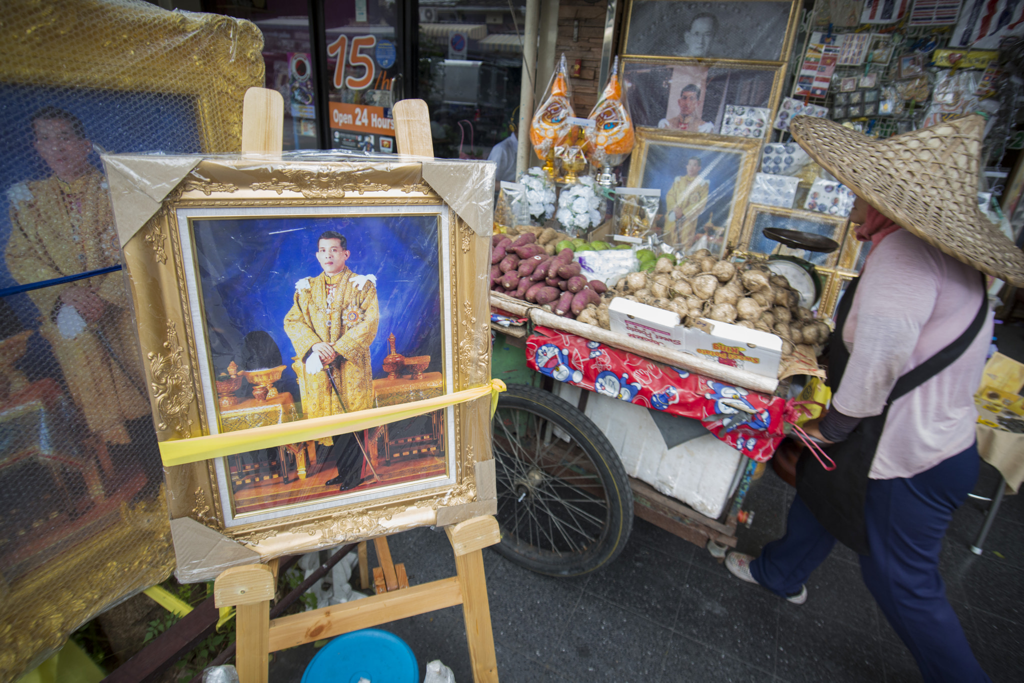
<svg viewBox="0 0 1024 683">
<path fill-rule="evenodd" d="M 434 162 L 449 204 L 429 164 L 208 159 L 130 238 L 115 204 L 172 520 L 273 557 L 494 513 L 490 240 L 463 218 L 493 171 Z M 330 420 L 362 422 L 302 431 Z"/>
</svg>

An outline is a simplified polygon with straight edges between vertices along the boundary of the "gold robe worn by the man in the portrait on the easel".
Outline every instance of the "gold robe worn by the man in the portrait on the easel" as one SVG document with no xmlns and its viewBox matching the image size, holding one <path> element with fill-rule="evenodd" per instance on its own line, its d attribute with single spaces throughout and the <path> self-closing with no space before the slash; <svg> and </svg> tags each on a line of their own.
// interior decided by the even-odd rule
<svg viewBox="0 0 1024 683">
<path fill-rule="evenodd" d="M 296 283 L 295 303 L 285 315 L 285 333 L 298 354 L 292 368 L 299 379 L 302 412 L 307 418 L 365 411 L 376 403 L 370 344 L 377 336 L 380 319 L 377 288 L 347 267 L 332 280 L 337 288 L 330 305 L 326 273 L 303 278 Z M 331 344 L 341 356 L 330 364 L 341 392 L 341 402 L 326 372 L 306 374 L 306 353 L 322 341 Z"/>
</svg>

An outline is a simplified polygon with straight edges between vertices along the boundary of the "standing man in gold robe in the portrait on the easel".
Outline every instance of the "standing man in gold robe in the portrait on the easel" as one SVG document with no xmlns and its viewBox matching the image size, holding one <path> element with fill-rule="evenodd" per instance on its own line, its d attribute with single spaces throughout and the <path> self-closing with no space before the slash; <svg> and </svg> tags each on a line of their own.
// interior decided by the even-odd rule
<svg viewBox="0 0 1024 683">
<path fill-rule="evenodd" d="M 349 270 L 345 261 L 350 256 L 342 234 L 334 230 L 321 234 L 316 260 L 324 272 L 295 284 L 295 303 L 285 315 L 285 333 L 297 353 L 292 368 L 307 418 L 355 413 L 376 404 L 370 344 L 380 318 L 377 278 Z M 345 490 L 357 485 L 362 459 L 354 435 L 339 440 L 322 441 L 333 445 L 330 457 L 338 458 L 338 476 L 327 485 L 340 483 Z"/>
</svg>

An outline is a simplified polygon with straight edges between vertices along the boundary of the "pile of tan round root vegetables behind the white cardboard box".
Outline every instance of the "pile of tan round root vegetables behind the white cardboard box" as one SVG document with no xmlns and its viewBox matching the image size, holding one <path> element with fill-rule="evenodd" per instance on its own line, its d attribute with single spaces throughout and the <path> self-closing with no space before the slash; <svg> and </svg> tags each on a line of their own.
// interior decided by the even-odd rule
<svg viewBox="0 0 1024 683">
<path fill-rule="evenodd" d="M 751 330 L 778 335 L 782 355 L 797 347 L 814 357 L 813 347 L 828 339 L 831 329 L 800 305 L 800 295 L 782 275 L 773 273 L 767 261 L 732 263 L 699 250 L 679 264 L 659 258 L 653 270 L 631 272 L 608 292 L 607 302 L 598 304 L 598 324 L 605 327 L 611 299 L 625 297 L 649 306 L 679 313 L 692 326 L 706 317 Z"/>
</svg>

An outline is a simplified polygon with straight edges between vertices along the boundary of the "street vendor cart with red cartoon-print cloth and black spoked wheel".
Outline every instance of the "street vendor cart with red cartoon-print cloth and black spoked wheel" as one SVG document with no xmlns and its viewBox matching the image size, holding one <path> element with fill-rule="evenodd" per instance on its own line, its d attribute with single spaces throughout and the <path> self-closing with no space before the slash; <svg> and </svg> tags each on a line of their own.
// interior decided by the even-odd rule
<svg viewBox="0 0 1024 683">
<path fill-rule="evenodd" d="M 634 516 L 723 556 L 782 439 L 778 381 L 492 293 L 496 549 L 535 571 L 613 560 Z"/>
</svg>

